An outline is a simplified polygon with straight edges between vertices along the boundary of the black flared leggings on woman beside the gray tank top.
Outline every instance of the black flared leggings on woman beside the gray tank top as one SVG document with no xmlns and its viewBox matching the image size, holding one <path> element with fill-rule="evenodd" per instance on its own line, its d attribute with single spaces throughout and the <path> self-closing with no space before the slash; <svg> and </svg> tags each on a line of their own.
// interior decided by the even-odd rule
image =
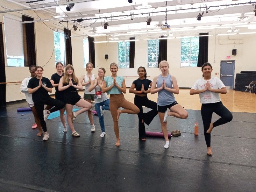
<svg viewBox="0 0 256 192">
<path fill-rule="evenodd" d="M 143 121 L 149 125 L 151 121 L 154 119 L 154 117 L 157 115 L 157 103 L 154 101 L 151 101 L 148 99 L 148 96 L 140 97 L 138 95 L 135 95 L 134 97 L 134 104 L 140 109 L 140 113 L 138 113 L 138 119 L 139 119 L 139 125 L 138 125 L 138 131 L 139 131 L 139 139 L 146 138 L 146 130 L 145 125 L 142 123 Z M 143 113 L 142 106 L 148 107 L 152 109 L 148 113 Z"/>
</svg>

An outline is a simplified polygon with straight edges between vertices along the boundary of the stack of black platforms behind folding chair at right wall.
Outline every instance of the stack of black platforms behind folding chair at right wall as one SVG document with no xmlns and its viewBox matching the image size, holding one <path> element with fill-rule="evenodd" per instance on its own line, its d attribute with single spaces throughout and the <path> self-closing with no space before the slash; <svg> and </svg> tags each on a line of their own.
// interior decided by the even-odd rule
<svg viewBox="0 0 256 192">
<path fill-rule="evenodd" d="M 251 81 L 256 81 L 256 71 L 241 71 L 241 73 L 237 73 L 235 78 L 235 90 L 245 91 L 246 86 L 248 86 Z M 247 91 L 249 92 L 249 88 Z"/>
</svg>

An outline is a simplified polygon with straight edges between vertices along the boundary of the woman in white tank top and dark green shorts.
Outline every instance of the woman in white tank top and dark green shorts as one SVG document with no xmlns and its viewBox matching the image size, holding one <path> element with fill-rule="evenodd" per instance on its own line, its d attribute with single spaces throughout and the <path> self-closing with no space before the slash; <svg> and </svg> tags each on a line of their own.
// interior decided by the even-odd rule
<svg viewBox="0 0 256 192">
<path fill-rule="evenodd" d="M 92 73 L 92 69 L 93 69 L 93 64 L 92 63 L 87 63 L 85 65 L 85 68 L 86 68 L 86 74 L 84 74 L 80 78 L 80 82 L 81 82 L 82 86 L 85 86 L 84 100 L 93 104 L 92 108 L 90 110 L 88 110 L 87 113 L 88 113 L 88 118 L 89 118 L 90 123 L 91 123 L 91 132 L 95 132 L 95 125 L 93 123 L 93 117 L 92 117 L 92 111 L 91 111 L 94 107 L 94 102 L 92 103 L 92 101 L 94 101 L 95 91 L 93 90 L 92 92 L 89 92 L 88 88 L 91 86 L 91 82 L 93 80 L 95 80 L 95 78 L 97 78 L 97 77 L 95 77 L 94 74 Z M 83 83 L 83 81 L 84 81 L 84 83 Z"/>
</svg>

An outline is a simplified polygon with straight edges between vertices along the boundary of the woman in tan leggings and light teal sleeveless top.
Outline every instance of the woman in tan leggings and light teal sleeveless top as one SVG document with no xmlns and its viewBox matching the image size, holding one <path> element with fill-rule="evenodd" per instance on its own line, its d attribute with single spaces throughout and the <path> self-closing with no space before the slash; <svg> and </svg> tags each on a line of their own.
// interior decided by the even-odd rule
<svg viewBox="0 0 256 192">
<path fill-rule="evenodd" d="M 102 92 L 107 92 L 110 95 L 110 112 L 114 122 L 114 131 L 116 136 L 116 146 L 120 146 L 118 119 L 121 113 L 138 114 L 140 109 L 133 103 L 127 101 L 123 95 L 126 93 L 125 79 L 117 76 L 118 65 L 116 63 L 110 64 L 111 76 L 104 78 Z M 119 109 L 124 108 L 123 110 Z"/>
</svg>

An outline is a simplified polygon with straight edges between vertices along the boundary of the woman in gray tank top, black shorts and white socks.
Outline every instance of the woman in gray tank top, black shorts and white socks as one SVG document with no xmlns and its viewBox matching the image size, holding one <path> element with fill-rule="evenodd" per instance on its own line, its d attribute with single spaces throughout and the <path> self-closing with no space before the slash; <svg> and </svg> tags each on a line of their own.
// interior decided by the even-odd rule
<svg viewBox="0 0 256 192">
<path fill-rule="evenodd" d="M 169 64 L 167 61 L 159 63 L 161 74 L 154 77 L 151 94 L 158 93 L 157 98 L 157 112 L 161 122 L 161 129 L 163 131 L 164 139 L 166 141 L 164 148 L 169 148 L 169 138 L 167 130 L 167 116 L 174 116 L 180 119 L 186 119 L 188 114 L 186 110 L 178 104 L 173 94 L 179 94 L 179 87 L 174 76 L 169 74 Z M 168 108 L 170 111 L 168 111 Z"/>
</svg>

